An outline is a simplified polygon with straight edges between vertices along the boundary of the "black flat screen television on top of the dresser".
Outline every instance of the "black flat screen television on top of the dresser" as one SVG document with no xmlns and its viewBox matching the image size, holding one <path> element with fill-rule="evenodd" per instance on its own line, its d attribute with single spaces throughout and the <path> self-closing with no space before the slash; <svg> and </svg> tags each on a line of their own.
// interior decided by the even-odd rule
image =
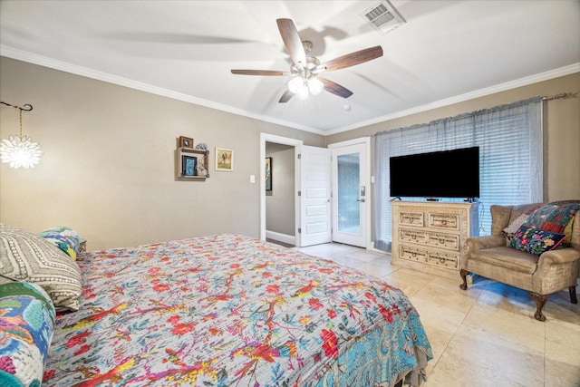
<svg viewBox="0 0 580 387">
<path fill-rule="evenodd" d="M 391 197 L 479 198 L 479 147 L 390 159 Z"/>
</svg>

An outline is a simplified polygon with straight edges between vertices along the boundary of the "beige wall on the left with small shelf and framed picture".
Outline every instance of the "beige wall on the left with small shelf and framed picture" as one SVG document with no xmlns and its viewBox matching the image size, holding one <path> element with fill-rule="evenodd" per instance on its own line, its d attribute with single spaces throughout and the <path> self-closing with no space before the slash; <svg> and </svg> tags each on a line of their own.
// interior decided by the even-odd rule
<svg viewBox="0 0 580 387">
<path fill-rule="evenodd" d="M 89 249 L 235 232 L 259 237 L 260 132 L 324 146 L 324 138 L 148 92 L 0 58 L 0 98 L 24 112 L 44 154 L 34 169 L 0 164 L 0 222 L 34 232 L 71 226 Z M 18 112 L 0 110 L 0 137 Z M 176 139 L 210 150 L 210 178 L 175 179 Z M 214 170 L 214 148 L 234 171 Z"/>
</svg>

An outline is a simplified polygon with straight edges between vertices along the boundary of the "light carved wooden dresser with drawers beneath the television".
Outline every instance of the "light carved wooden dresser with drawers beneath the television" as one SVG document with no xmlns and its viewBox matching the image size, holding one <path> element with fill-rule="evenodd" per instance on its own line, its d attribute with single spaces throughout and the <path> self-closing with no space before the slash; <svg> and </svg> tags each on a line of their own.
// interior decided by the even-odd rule
<svg viewBox="0 0 580 387">
<path fill-rule="evenodd" d="M 478 203 L 391 201 L 391 264 L 459 279 L 465 240 L 478 236 Z"/>
</svg>

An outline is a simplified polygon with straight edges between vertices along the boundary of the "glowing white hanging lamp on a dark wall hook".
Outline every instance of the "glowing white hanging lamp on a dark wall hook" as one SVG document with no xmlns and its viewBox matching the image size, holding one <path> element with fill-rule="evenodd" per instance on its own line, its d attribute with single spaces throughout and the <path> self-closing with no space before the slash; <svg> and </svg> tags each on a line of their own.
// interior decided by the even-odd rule
<svg viewBox="0 0 580 387">
<path fill-rule="evenodd" d="M 43 151 L 40 150 L 38 142 L 33 142 L 30 137 L 22 135 L 22 112 L 32 111 L 33 106 L 25 104 L 21 108 L 6 102 L 0 103 L 20 110 L 20 133 L 11 135 L 8 140 L 4 139 L 0 142 L 0 160 L 10 163 L 10 168 L 14 169 L 34 168 L 34 165 L 40 162 Z"/>
</svg>

